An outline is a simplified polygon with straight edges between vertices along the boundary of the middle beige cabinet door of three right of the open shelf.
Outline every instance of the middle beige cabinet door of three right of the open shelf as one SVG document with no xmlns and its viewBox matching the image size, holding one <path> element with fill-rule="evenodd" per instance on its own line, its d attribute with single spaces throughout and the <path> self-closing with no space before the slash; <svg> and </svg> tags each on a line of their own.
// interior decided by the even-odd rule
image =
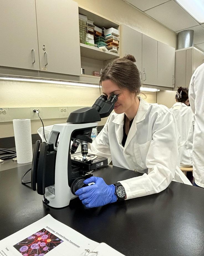
<svg viewBox="0 0 204 256">
<path fill-rule="evenodd" d="M 142 83 L 157 85 L 157 40 L 142 34 Z"/>
</svg>

